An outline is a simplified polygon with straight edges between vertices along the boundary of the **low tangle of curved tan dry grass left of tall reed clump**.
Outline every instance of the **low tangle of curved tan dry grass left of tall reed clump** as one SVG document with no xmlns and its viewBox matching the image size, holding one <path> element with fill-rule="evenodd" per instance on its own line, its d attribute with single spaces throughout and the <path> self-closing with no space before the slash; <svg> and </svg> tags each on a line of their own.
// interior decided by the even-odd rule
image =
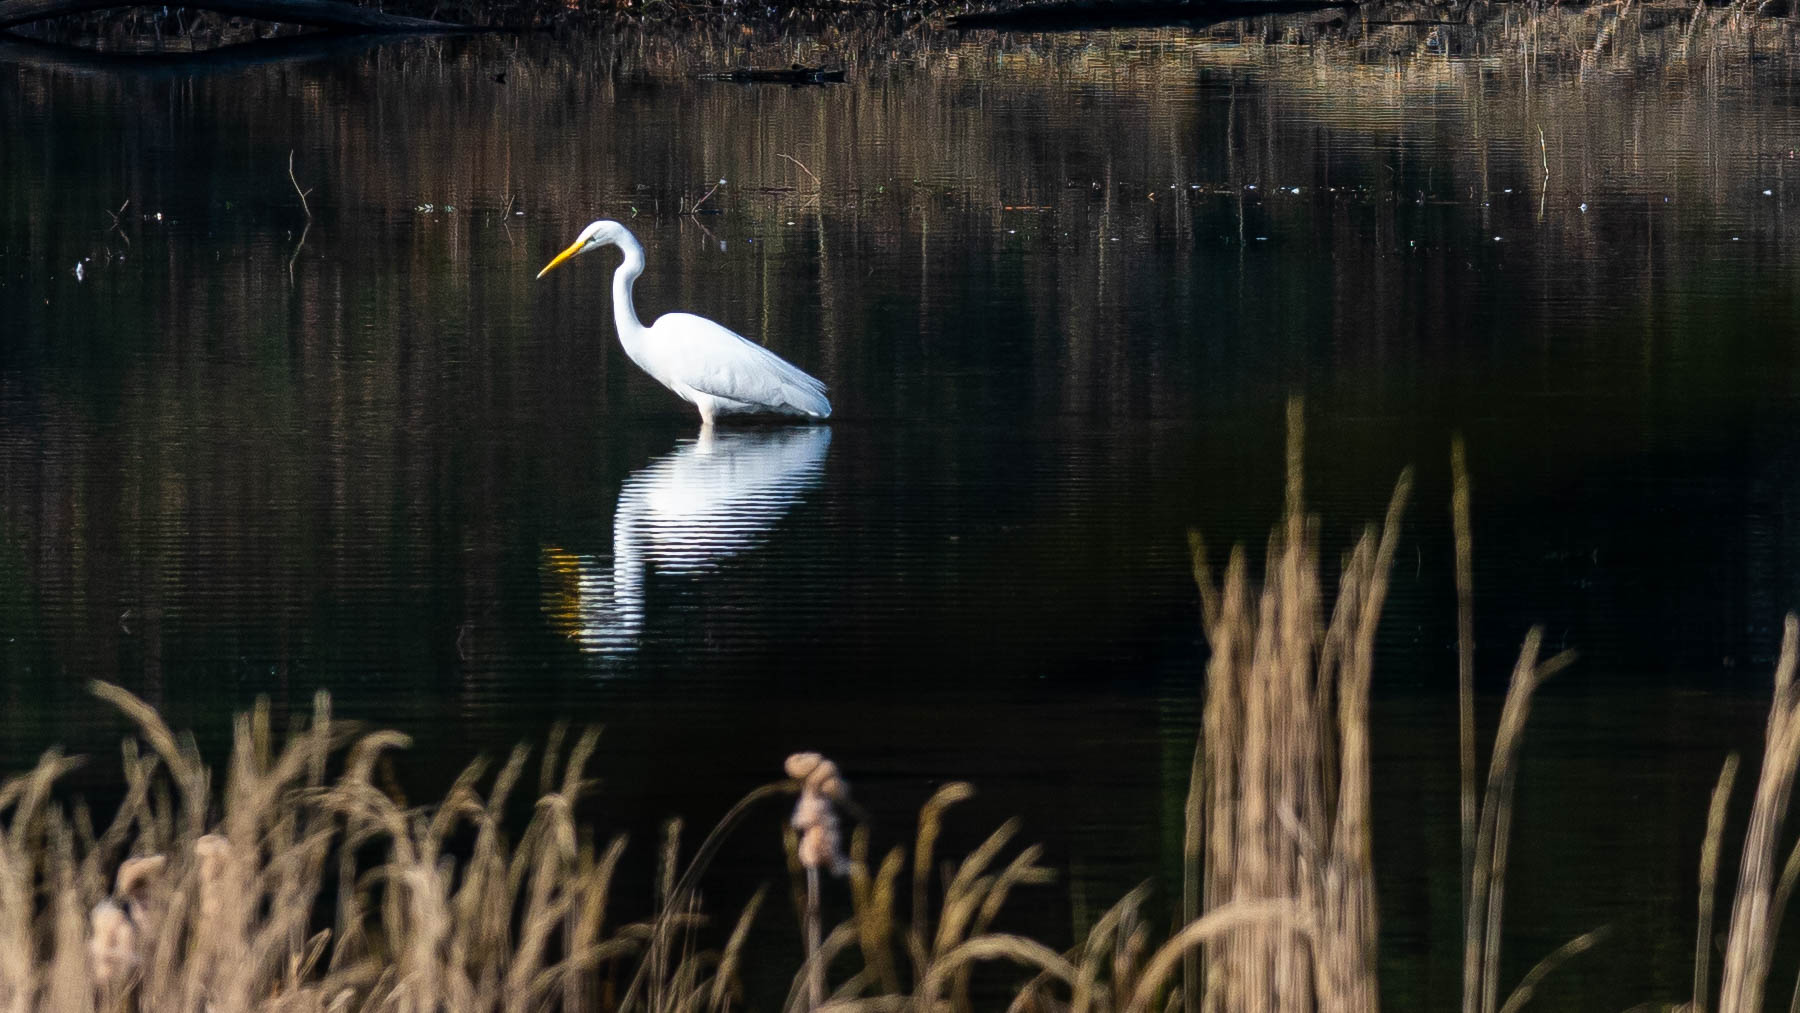
<svg viewBox="0 0 1800 1013">
<path fill-rule="evenodd" d="M 743 813 L 788 795 L 799 795 L 788 858 L 808 883 L 796 901 L 808 955 L 783 1009 L 968 1009 L 974 968 L 994 961 L 1024 968 L 1021 1008 L 1148 1009 L 1186 946 L 1287 918 L 1280 905 L 1228 909 L 1152 950 L 1147 891 L 1134 891 L 1067 952 L 994 932 L 1015 889 L 1051 878 L 1039 847 L 1013 846 L 1015 822 L 936 880 L 945 820 L 972 795 L 947 784 L 909 846 L 875 862 L 859 826 L 844 853 L 839 811 L 859 810 L 835 765 L 801 754 L 686 858 L 671 824 L 655 912 L 614 923 L 625 842 L 596 842 L 576 819 L 594 732 L 567 750 L 551 736 L 533 817 L 513 837 L 504 813 L 527 781 L 524 747 L 497 770 L 470 765 L 434 806 L 407 806 L 374 777 L 405 736 L 347 729 L 320 695 L 279 749 L 266 705 L 239 718 L 216 786 L 189 736 L 119 687 L 94 689 L 137 725 L 112 822 L 95 833 L 85 808 L 58 801 L 76 761 L 54 750 L 0 784 L 7 1013 L 742 1008 L 738 970 L 763 896 L 715 932 L 700 882 Z M 821 927 L 833 874 L 848 880 L 851 916 Z M 700 945 L 720 934 L 718 948 Z"/>
</svg>

